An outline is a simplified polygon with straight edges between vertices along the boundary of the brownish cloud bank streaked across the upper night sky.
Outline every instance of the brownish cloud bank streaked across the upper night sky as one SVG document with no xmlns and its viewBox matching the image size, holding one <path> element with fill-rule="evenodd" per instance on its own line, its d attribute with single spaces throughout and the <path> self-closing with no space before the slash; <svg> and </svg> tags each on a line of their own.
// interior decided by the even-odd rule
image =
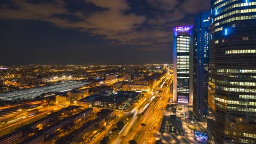
<svg viewBox="0 0 256 144">
<path fill-rule="evenodd" d="M 142 51 L 170 49 L 172 26 L 183 25 L 187 14 L 196 14 L 210 7 L 210 0 L 148 0 L 151 7 L 160 10 L 148 16 L 126 13 L 133 8 L 125 0 L 81 0 L 101 9 L 89 14 L 85 14 L 83 9 L 70 13 L 67 3 L 61 0 L 37 4 L 22 0 L 12 2 L 16 8 L 0 8 L 0 18 L 37 19 L 61 28 L 77 28 L 91 35 L 102 35 L 111 44 L 135 45 Z M 76 17 L 77 21 L 70 17 Z"/>
</svg>

